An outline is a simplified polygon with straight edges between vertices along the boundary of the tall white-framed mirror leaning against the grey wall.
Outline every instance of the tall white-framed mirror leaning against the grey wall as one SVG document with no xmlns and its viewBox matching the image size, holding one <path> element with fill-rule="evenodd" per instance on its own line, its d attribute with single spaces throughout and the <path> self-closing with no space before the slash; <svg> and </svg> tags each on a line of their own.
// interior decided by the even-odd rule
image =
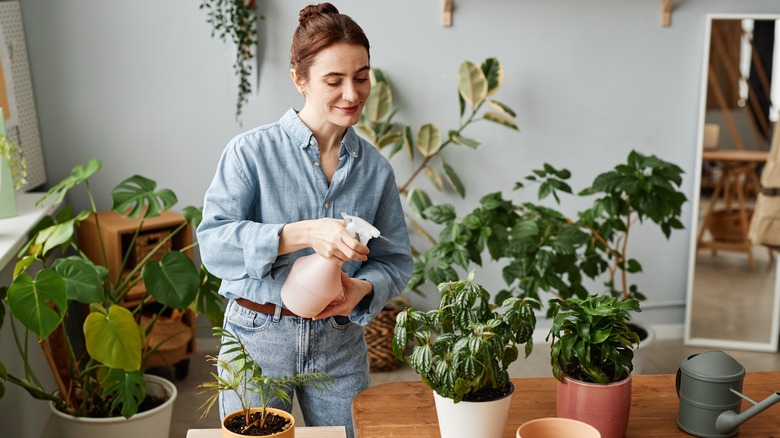
<svg viewBox="0 0 780 438">
<path fill-rule="evenodd" d="M 774 134 L 780 103 L 779 19 L 708 17 L 686 345 L 778 348 L 778 256 L 753 243 L 748 230 L 762 190 L 761 171 L 773 137 L 780 136 Z"/>
</svg>

